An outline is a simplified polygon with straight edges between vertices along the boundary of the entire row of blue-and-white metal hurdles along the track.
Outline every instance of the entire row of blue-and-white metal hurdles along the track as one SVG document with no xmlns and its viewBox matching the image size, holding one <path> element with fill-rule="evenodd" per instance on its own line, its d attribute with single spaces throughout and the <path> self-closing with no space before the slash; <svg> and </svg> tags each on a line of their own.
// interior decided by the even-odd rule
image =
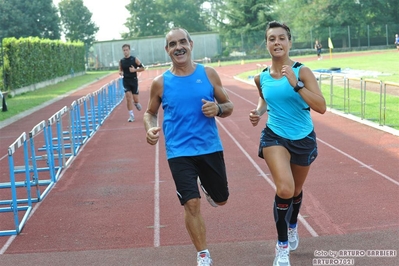
<svg viewBox="0 0 399 266">
<path fill-rule="evenodd" d="M 8 148 L 9 180 L 0 183 L 0 236 L 17 235 L 81 147 L 124 98 L 122 79 L 64 106 Z"/>
</svg>

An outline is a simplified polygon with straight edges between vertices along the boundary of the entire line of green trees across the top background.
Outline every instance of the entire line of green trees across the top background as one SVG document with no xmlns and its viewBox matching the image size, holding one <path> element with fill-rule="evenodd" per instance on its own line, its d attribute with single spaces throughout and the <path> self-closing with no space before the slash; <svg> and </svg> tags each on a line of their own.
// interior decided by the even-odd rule
<svg viewBox="0 0 399 266">
<path fill-rule="evenodd" d="M 298 36 L 308 29 L 399 25 L 398 0 L 131 0 L 125 8 L 130 16 L 121 38 L 164 35 L 171 27 L 228 38 L 264 31 L 271 20 L 295 28 Z M 52 0 L 0 0 L 0 38 L 63 35 L 90 47 L 99 30 L 91 17 L 83 0 L 61 0 L 58 6 Z"/>
</svg>

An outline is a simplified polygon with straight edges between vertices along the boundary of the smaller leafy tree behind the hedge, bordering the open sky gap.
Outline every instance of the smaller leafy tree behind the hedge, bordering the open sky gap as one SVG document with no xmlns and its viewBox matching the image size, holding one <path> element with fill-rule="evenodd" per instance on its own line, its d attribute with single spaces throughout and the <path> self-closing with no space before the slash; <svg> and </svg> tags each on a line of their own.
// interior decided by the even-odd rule
<svg viewBox="0 0 399 266">
<path fill-rule="evenodd" d="M 91 20 L 92 13 L 83 0 L 62 0 L 58 7 L 67 41 L 81 41 L 91 47 L 99 28 Z"/>
</svg>

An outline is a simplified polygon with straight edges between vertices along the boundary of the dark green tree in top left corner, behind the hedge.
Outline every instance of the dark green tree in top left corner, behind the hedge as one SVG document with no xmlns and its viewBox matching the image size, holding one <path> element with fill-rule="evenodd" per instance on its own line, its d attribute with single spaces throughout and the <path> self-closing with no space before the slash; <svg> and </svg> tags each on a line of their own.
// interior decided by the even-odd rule
<svg viewBox="0 0 399 266">
<path fill-rule="evenodd" d="M 1 37 L 60 38 L 60 19 L 52 0 L 0 0 Z"/>
</svg>

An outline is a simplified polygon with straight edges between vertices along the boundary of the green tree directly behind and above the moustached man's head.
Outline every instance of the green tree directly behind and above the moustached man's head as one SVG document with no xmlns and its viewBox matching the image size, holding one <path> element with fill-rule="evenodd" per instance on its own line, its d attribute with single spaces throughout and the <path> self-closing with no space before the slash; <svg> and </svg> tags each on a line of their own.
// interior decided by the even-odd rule
<svg viewBox="0 0 399 266">
<path fill-rule="evenodd" d="M 204 0 L 131 0 L 126 6 L 130 13 L 123 38 L 163 35 L 172 27 L 189 32 L 209 30 L 202 13 Z"/>
</svg>

